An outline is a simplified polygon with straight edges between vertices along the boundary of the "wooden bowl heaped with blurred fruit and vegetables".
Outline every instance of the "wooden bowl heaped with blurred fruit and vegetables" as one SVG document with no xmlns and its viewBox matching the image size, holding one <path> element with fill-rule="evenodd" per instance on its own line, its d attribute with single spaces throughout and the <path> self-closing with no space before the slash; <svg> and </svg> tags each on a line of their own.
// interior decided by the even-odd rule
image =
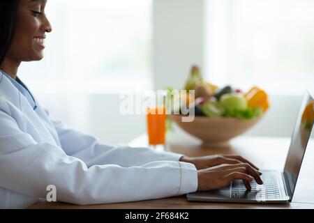
<svg viewBox="0 0 314 223">
<path fill-rule="evenodd" d="M 179 98 L 186 102 L 188 114 L 179 108 L 172 110 L 168 118 L 209 147 L 228 146 L 230 139 L 252 128 L 269 109 L 268 95 L 259 87 L 254 86 L 246 92 L 232 86 L 219 88 L 205 82 L 196 66 L 192 68 L 184 90 L 186 93 L 177 97 L 172 95 L 172 101 Z M 191 96 L 190 90 L 195 94 Z M 191 114 L 193 121 L 183 121 L 184 116 Z"/>
</svg>

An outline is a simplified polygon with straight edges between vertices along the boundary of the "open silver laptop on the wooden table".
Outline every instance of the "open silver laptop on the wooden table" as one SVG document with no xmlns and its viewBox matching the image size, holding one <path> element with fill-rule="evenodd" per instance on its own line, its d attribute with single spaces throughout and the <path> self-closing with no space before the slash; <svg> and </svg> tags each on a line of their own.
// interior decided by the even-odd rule
<svg viewBox="0 0 314 223">
<path fill-rule="evenodd" d="M 312 116 L 312 118 L 311 118 Z M 284 171 L 262 171 L 263 185 L 251 182 L 252 190 L 246 190 L 242 180 L 234 180 L 230 186 L 219 190 L 194 192 L 186 195 L 188 201 L 229 203 L 286 203 L 291 202 L 297 185 L 301 163 L 313 128 L 314 100 L 306 91 L 297 122 L 294 125 Z"/>
</svg>

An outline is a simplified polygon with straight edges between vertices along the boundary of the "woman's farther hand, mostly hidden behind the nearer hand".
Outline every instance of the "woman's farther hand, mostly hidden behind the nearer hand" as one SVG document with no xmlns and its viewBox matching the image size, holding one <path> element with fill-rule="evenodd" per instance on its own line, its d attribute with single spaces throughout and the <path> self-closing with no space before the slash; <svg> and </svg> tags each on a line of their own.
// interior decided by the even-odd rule
<svg viewBox="0 0 314 223">
<path fill-rule="evenodd" d="M 258 170 L 258 168 L 249 162 L 248 160 L 244 159 L 240 155 L 208 155 L 202 157 L 181 157 L 181 162 L 190 162 L 195 165 L 197 170 L 200 169 L 207 169 L 209 167 L 215 167 L 220 164 L 249 164 L 254 169 Z"/>
</svg>

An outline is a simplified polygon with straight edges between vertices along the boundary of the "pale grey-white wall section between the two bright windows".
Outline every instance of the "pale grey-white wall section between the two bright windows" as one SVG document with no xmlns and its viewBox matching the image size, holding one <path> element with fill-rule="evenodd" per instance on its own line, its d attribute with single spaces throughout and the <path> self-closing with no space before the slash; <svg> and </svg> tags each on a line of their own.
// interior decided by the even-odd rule
<svg viewBox="0 0 314 223">
<path fill-rule="evenodd" d="M 190 67 L 204 65 L 204 1 L 154 0 L 153 10 L 155 87 L 182 88 Z"/>
</svg>

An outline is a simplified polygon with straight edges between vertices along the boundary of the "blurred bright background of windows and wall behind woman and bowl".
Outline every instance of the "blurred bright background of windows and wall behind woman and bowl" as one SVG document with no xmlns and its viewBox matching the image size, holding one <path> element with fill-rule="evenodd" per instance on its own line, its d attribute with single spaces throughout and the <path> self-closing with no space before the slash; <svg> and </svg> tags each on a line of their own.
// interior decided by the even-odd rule
<svg viewBox="0 0 314 223">
<path fill-rule="evenodd" d="M 269 93 L 247 135 L 290 137 L 306 89 L 314 92 L 313 0 L 53 0 L 45 59 L 20 78 L 53 116 L 104 143 L 146 132 L 121 115 L 121 91 L 184 86 L 190 67 L 218 86 Z"/>
</svg>

